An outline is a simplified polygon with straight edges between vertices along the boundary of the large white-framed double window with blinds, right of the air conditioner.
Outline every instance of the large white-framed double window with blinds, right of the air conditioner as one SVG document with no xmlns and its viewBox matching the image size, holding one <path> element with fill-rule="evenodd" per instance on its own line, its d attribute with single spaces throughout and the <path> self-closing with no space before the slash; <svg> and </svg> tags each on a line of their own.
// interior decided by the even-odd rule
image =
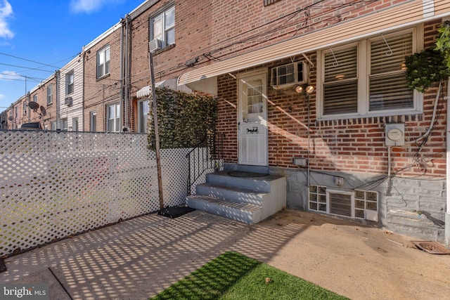
<svg viewBox="0 0 450 300">
<path fill-rule="evenodd" d="M 420 112 L 423 96 L 408 89 L 404 59 L 422 48 L 422 29 L 379 34 L 319 51 L 317 117 Z"/>
</svg>

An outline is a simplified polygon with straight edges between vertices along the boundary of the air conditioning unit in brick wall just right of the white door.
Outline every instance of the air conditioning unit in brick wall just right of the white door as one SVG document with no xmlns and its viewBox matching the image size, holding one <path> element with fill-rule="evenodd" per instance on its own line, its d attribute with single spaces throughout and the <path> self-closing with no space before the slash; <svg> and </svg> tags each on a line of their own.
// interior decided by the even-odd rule
<svg viewBox="0 0 450 300">
<path fill-rule="evenodd" d="M 297 84 L 308 83 L 308 65 L 304 62 L 280 65 L 271 70 L 273 89 L 284 89 Z"/>
</svg>

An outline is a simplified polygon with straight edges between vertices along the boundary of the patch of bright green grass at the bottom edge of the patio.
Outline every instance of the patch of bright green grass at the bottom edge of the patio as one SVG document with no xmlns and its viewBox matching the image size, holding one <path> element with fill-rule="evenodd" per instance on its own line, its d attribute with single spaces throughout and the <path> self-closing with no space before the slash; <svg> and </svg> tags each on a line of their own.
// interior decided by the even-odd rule
<svg viewBox="0 0 450 300">
<path fill-rule="evenodd" d="M 243 254 L 225 252 L 151 299 L 347 298 Z"/>
</svg>

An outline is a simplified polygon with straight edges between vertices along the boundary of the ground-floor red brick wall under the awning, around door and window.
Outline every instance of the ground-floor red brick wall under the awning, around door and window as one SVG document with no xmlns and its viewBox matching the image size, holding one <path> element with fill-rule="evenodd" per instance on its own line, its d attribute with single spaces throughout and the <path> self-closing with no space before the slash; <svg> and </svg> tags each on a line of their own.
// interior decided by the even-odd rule
<svg viewBox="0 0 450 300">
<path fill-rule="evenodd" d="M 283 1 L 281 1 L 283 2 Z M 425 24 L 425 47 L 432 46 L 439 22 Z M 307 53 L 316 65 L 316 53 Z M 277 65 L 288 60 L 276 62 Z M 269 70 L 272 65 L 268 65 Z M 316 68 L 310 69 L 310 83 L 315 85 Z M 307 99 L 295 93 L 270 88 L 268 82 L 269 165 L 297 168 L 293 157 L 308 156 Z M 226 134 L 225 161 L 237 162 L 236 80 L 219 77 L 219 121 L 217 129 Z M 385 124 L 404 122 L 406 141 L 418 138 L 430 126 L 437 86 L 425 93 L 423 114 L 392 117 L 370 117 L 333 121 L 316 121 L 314 94 L 310 102 L 310 167 L 317 170 L 387 173 Z M 442 93 L 446 93 L 444 84 Z M 442 96 L 441 96 L 442 97 Z M 446 171 L 446 101 L 439 100 L 437 125 L 419 150 L 407 144 L 392 148 L 392 173 L 399 176 L 445 176 Z"/>
</svg>

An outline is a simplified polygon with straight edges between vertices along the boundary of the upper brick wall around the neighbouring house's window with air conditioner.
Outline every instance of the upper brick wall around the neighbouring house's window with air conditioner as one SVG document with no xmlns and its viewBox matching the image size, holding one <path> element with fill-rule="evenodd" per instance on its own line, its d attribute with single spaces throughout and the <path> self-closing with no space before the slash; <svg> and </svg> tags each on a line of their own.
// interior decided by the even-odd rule
<svg viewBox="0 0 450 300">
<path fill-rule="evenodd" d="M 205 52 L 211 43 L 211 1 L 175 1 L 175 45 L 155 53 L 155 79 L 176 78 L 186 69 L 186 61 Z M 150 84 L 148 67 L 149 20 L 155 12 L 169 8 L 174 1 L 159 1 L 132 20 L 131 95 Z M 202 58 L 205 60 L 205 58 Z"/>
</svg>

